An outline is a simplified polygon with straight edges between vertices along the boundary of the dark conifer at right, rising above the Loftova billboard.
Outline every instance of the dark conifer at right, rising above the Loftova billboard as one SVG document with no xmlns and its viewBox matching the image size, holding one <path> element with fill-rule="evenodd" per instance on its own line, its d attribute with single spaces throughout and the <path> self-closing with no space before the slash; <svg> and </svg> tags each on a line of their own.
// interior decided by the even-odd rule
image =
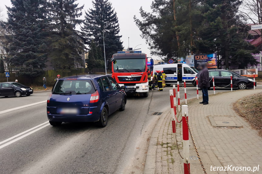
<svg viewBox="0 0 262 174">
<path fill-rule="evenodd" d="M 259 63 L 251 55 L 257 53 L 256 48 L 247 42 L 249 27 L 243 23 L 243 15 L 238 13 L 241 4 L 240 0 L 205 1 L 207 8 L 199 30 L 201 39 L 196 47 L 201 53 L 217 52 L 226 69 L 230 62 L 242 68 Z"/>
</svg>

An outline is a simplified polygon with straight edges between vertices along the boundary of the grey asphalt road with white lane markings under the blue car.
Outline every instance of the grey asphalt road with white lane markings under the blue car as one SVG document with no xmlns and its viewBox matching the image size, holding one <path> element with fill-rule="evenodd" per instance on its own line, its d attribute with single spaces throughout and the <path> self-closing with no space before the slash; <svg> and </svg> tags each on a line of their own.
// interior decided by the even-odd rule
<svg viewBox="0 0 262 174">
<path fill-rule="evenodd" d="M 153 113 L 169 110 L 170 89 L 150 91 L 148 98 L 128 97 L 126 109 L 112 114 L 105 128 L 93 123 L 49 125 L 44 101 L 50 92 L 0 97 L 0 173 L 141 173 L 152 130 L 161 117 Z M 184 90 L 180 91 L 182 98 Z M 195 91 L 187 87 L 188 99 L 196 97 Z M 216 89 L 225 91 L 230 89 Z"/>
</svg>

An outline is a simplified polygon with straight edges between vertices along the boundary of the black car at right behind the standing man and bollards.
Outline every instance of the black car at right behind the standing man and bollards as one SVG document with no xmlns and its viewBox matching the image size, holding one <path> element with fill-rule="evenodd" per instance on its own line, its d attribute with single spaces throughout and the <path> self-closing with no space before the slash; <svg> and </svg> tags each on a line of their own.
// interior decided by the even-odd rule
<svg viewBox="0 0 262 174">
<path fill-rule="evenodd" d="M 210 87 L 213 87 L 213 80 L 212 76 L 214 76 L 214 82 L 216 87 L 228 87 L 230 88 L 230 75 L 232 74 L 232 86 L 233 88 L 238 89 L 247 89 L 254 87 L 254 80 L 253 78 L 243 77 L 239 74 L 236 74 L 232 71 L 227 70 L 209 70 L 209 84 Z M 199 77 L 199 73 L 196 75 Z M 255 82 L 255 86 L 257 86 L 257 82 Z"/>
</svg>

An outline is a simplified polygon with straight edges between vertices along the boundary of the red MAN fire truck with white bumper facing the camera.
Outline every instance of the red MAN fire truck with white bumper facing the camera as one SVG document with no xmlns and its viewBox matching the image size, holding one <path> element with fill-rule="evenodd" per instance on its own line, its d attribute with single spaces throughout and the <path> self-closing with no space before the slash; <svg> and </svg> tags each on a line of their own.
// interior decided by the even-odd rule
<svg viewBox="0 0 262 174">
<path fill-rule="evenodd" d="M 125 86 L 127 94 L 143 94 L 148 97 L 148 65 L 153 65 L 153 59 L 147 60 L 141 51 L 117 51 L 107 61 L 112 63 L 112 77 L 120 86 Z M 150 69 L 150 68 L 149 68 Z"/>
</svg>

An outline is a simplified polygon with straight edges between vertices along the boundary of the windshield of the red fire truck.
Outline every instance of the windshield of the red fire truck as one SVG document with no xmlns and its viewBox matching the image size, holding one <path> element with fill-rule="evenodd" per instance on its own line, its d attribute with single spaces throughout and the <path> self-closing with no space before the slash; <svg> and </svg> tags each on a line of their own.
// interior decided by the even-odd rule
<svg viewBox="0 0 262 174">
<path fill-rule="evenodd" d="M 114 72 L 145 72 L 145 59 L 117 59 Z"/>
</svg>

